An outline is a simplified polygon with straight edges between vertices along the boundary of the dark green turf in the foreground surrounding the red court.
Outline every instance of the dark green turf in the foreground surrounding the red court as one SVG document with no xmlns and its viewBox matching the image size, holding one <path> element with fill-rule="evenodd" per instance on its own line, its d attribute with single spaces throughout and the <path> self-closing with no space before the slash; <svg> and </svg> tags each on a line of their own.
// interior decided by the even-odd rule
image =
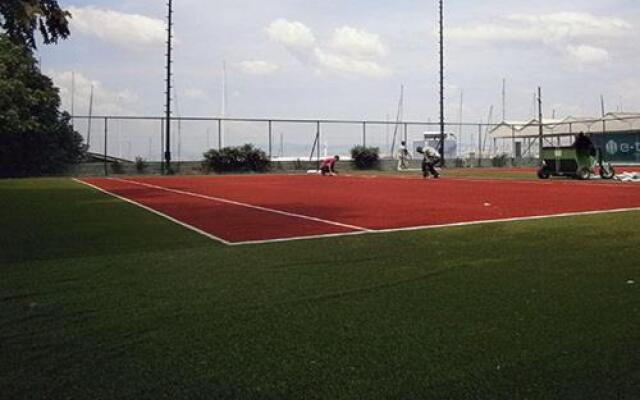
<svg viewBox="0 0 640 400">
<path fill-rule="evenodd" d="M 228 247 L 0 181 L 0 397 L 638 399 L 640 212 Z"/>
</svg>

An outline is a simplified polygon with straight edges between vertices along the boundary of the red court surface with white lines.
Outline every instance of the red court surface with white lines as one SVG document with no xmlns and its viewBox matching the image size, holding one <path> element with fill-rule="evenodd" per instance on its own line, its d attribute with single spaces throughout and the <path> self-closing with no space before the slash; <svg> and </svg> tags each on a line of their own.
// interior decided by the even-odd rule
<svg viewBox="0 0 640 400">
<path fill-rule="evenodd" d="M 226 244 L 640 210 L 640 185 L 301 175 L 81 182 Z"/>
</svg>

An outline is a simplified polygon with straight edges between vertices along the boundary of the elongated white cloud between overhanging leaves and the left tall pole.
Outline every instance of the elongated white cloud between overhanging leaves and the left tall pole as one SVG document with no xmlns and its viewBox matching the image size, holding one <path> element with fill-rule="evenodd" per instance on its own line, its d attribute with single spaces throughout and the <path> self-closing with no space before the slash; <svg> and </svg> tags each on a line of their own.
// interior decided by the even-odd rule
<svg viewBox="0 0 640 400">
<path fill-rule="evenodd" d="M 161 46 L 166 40 L 166 25 L 160 19 L 92 6 L 70 7 L 69 11 L 72 32 L 94 36 L 119 47 L 140 50 Z"/>
</svg>

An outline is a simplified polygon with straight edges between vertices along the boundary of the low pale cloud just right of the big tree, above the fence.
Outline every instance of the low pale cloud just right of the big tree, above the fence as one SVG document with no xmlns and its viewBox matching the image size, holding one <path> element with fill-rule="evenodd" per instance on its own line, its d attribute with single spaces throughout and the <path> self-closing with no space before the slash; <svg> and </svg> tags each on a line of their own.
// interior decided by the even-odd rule
<svg viewBox="0 0 640 400">
<path fill-rule="evenodd" d="M 102 82 L 72 71 L 47 71 L 56 87 L 60 89 L 62 108 L 75 115 L 89 113 L 91 86 L 93 86 L 94 115 L 133 115 L 137 96 L 129 90 L 113 90 Z M 73 94 L 72 94 L 73 91 Z M 72 101 L 73 98 L 73 101 Z"/>
</svg>

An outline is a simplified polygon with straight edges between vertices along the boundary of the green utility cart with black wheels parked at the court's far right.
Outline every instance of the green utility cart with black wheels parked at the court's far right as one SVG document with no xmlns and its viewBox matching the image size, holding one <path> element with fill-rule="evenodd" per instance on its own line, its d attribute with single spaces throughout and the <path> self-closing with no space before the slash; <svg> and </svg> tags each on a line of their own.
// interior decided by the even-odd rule
<svg viewBox="0 0 640 400">
<path fill-rule="evenodd" d="M 588 150 L 576 148 L 576 146 L 544 147 L 541 159 L 542 168 L 538 170 L 540 179 L 549 179 L 550 176 L 568 176 L 587 180 L 596 173 L 600 174 L 602 179 L 613 179 L 615 176 L 611 164 L 604 161 L 602 149 L 597 147 Z"/>
</svg>

